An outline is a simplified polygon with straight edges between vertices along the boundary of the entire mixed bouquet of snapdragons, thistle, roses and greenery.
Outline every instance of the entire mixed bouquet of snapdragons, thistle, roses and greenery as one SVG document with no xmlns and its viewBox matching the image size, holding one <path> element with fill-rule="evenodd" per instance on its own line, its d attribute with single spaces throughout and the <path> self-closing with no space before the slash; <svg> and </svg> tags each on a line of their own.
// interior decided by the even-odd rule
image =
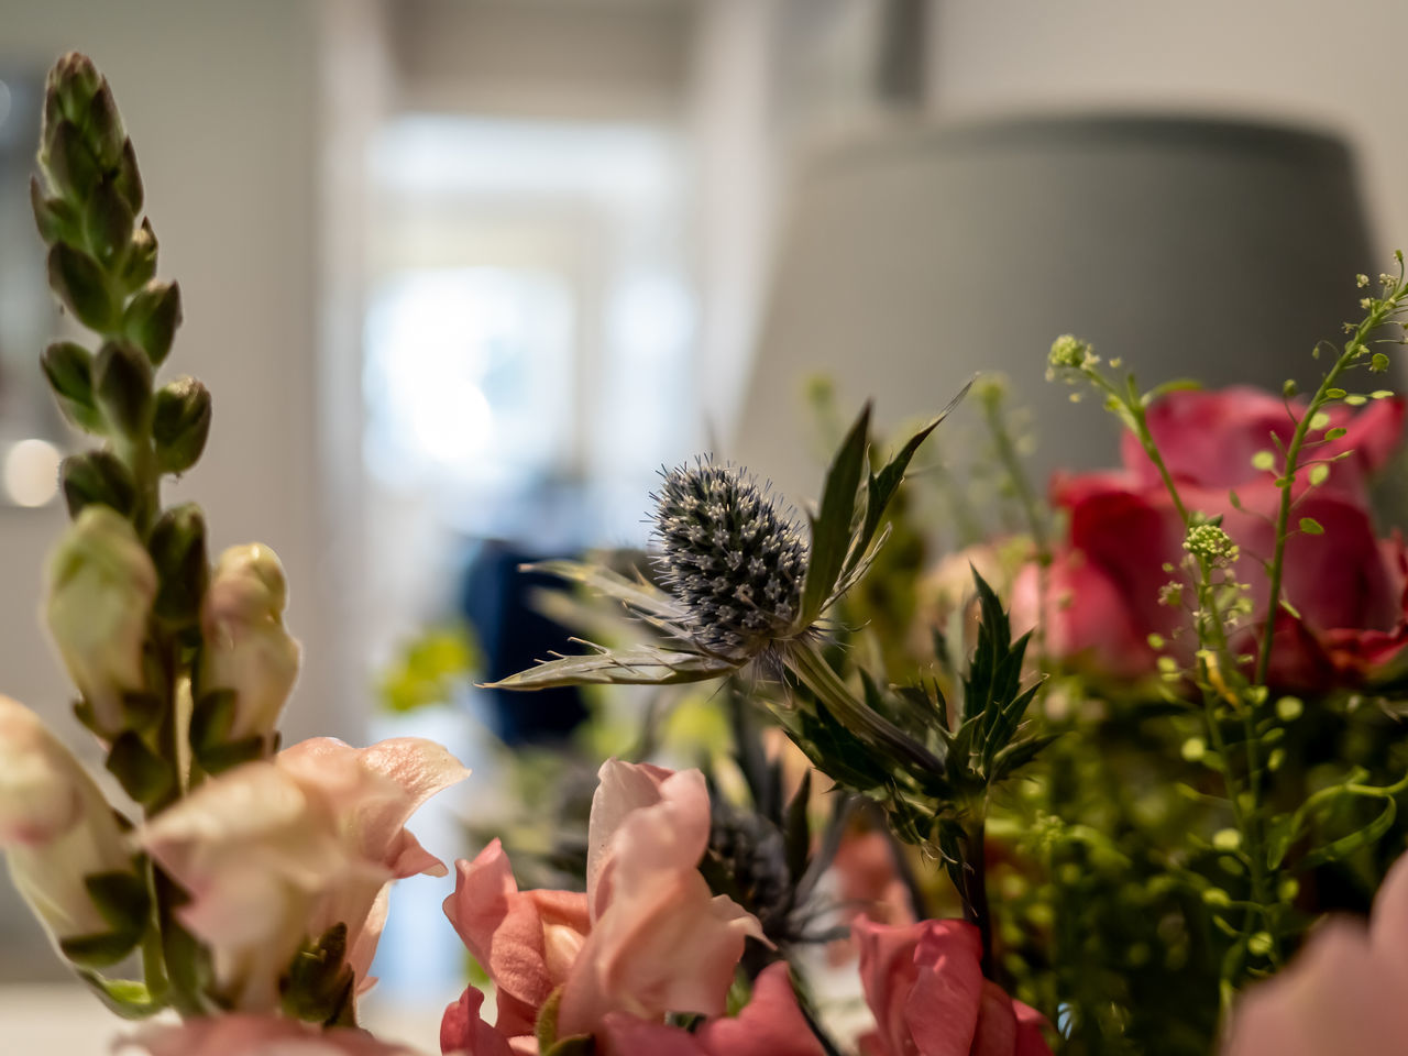
<svg viewBox="0 0 1408 1056">
<path fill-rule="evenodd" d="M 467 772 L 415 738 L 280 745 L 284 572 L 260 545 L 213 562 L 201 511 L 162 504 L 211 400 L 155 380 L 180 293 L 83 56 L 49 76 L 39 169 L 49 283 L 96 335 L 42 365 L 101 442 L 63 463 L 44 614 L 125 798 L 0 697 L 10 874 L 94 995 L 146 1021 L 125 1050 L 408 1052 L 358 1001 L 390 883 L 446 872 L 407 819 Z M 663 477 L 650 562 L 546 566 L 629 620 L 579 597 L 610 645 L 500 689 L 700 686 L 728 745 L 601 765 L 560 888 L 521 886 L 498 839 L 455 863 L 445 914 L 483 987 L 442 1052 L 1401 1052 L 1408 560 L 1370 479 L 1404 406 L 1349 387 L 1400 344 L 1401 256 L 1359 284 L 1308 397 L 1146 391 L 1057 339 L 1052 380 L 1125 439 L 1049 504 L 980 379 L 983 507 L 905 482 L 943 414 L 883 459 L 866 410 L 805 520 L 700 459 Z M 955 527 L 936 563 L 925 489 Z"/>
</svg>

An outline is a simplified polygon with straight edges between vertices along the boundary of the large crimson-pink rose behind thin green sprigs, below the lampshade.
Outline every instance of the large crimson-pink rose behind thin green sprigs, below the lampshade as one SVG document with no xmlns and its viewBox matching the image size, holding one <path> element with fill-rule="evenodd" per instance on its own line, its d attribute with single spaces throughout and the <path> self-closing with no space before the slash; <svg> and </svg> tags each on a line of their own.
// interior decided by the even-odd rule
<svg viewBox="0 0 1408 1056">
<path fill-rule="evenodd" d="M 1293 410 L 1302 411 L 1233 387 L 1170 393 L 1148 414 L 1187 508 L 1221 515 L 1240 549 L 1235 573 L 1250 587 L 1252 618 L 1232 645 L 1245 653 L 1257 650 L 1269 618 L 1264 563 L 1281 498 L 1276 472 L 1255 467 L 1253 458 L 1290 441 Z M 1276 617 L 1270 681 L 1278 689 L 1359 684 L 1408 645 L 1408 553 L 1398 538 L 1374 536 L 1367 500 L 1367 477 L 1397 448 L 1402 422 L 1402 401 L 1376 400 L 1357 414 L 1336 407 L 1309 434 L 1316 444 L 1305 459 L 1340 458 L 1324 462 L 1325 480 L 1312 484 L 1302 467 L 1293 484 L 1291 528 L 1309 518 L 1324 534 L 1294 532 L 1287 541 L 1283 597 L 1298 618 L 1286 610 Z M 1177 569 L 1184 558 L 1181 518 L 1131 432 L 1121 456 L 1119 470 L 1059 476 L 1052 484 L 1070 531 L 1055 553 L 1042 615 L 1053 656 L 1093 674 L 1132 679 L 1156 669 L 1150 634 L 1169 641 L 1176 656 L 1190 655 L 1194 643 L 1187 632 L 1176 636 L 1188 614 L 1160 603 L 1160 590 L 1178 579 L 1166 566 Z M 1038 570 L 1025 569 L 1014 589 L 1015 620 L 1036 622 L 1038 590 Z"/>
</svg>

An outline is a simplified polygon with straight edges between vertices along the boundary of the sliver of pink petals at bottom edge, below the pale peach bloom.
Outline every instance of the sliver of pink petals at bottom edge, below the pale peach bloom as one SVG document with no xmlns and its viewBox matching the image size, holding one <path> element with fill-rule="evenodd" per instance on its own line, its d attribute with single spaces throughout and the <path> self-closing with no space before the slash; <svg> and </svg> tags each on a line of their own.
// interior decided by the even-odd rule
<svg viewBox="0 0 1408 1056">
<path fill-rule="evenodd" d="M 487 1053 L 489 1050 L 486 1050 Z M 117 1043 L 118 1056 L 418 1056 L 366 1031 L 320 1029 L 272 1015 L 221 1015 L 146 1026 Z M 470 1053 L 469 1056 L 480 1056 Z M 493 1053 L 489 1053 L 493 1056 Z"/>
</svg>

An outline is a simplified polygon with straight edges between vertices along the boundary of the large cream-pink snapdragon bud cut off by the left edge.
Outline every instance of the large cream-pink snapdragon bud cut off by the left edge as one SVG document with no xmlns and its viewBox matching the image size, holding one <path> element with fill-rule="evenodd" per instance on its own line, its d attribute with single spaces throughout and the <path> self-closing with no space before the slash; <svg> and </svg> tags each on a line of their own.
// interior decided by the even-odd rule
<svg viewBox="0 0 1408 1056">
<path fill-rule="evenodd" d="M 130 872 L 131 852 L 97 784 L 39 717 L 0 696 L 0 849 L 55 941 L 110 929 L 83 886 Z"/>
</svg>

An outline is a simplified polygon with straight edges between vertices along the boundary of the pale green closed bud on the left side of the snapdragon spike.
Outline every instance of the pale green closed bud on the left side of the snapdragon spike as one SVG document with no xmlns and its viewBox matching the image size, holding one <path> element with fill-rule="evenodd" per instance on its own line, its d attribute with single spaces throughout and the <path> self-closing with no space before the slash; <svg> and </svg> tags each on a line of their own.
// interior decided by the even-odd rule
<svg viewBox="0 0 1408 1056">
<path fill-rule="evenodd" d="M 130 722 L 124 697 L 145 690 L 142 645 L 156 569 L 131 522 L 87 505 L 49 556 L 45 618 L 93 728 L 114 738 Z"/>
</svg>

